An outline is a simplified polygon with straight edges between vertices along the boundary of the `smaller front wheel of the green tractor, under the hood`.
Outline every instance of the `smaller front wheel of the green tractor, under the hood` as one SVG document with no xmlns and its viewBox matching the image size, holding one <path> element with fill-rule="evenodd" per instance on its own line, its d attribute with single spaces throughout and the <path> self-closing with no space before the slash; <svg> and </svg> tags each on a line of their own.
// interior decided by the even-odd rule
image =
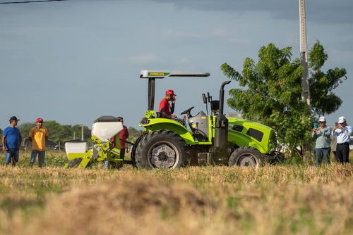
<svg viewBox="0 0 353 235">
<path fill-rule="evenodd" d="M 238 165 L 239 167 L 260 167 L 264 163 L 263 155 L 251 147 L 241 147 L 234 150 L 230 155 L 228 165 Z"/>
</svg>

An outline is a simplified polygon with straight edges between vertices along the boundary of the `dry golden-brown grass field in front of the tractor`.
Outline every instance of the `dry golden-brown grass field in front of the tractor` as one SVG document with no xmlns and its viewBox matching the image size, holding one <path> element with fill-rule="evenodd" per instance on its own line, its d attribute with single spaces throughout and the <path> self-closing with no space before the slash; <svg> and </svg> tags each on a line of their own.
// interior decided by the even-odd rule
<svg viewBox="0 0 353 235">
<path fill-rule="evenodd" d="M 0 234 L 353 234 L 353 166 L 0 166 Z M 4 157 L 1 157 L 1 161 Z M 352 158 L 351 158 L 352 160 Z"/>
</svg>

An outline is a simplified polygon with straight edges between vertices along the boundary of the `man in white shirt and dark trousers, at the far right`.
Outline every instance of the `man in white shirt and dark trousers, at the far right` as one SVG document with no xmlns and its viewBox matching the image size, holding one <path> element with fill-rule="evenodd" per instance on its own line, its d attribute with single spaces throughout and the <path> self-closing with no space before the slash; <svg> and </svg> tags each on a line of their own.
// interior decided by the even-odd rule
<svg viewBox="0 0 353 235">
<path fill-rule="evenodd" d="M 352 127 L 347 125 L 345 117 L 338 118 L 338 125 L 333 127 L 333 135 L 337 136 L 336 155 L 340 163 L 349 163 L 349 138 Z"/>
</svg>

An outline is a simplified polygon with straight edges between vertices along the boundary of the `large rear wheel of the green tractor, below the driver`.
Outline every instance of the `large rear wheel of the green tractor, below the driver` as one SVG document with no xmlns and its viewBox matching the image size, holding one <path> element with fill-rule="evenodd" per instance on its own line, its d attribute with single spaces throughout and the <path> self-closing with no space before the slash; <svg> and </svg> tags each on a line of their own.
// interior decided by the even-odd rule
<svg viewBox="0 0 353 235">
<path fill-rule="evenodd" d="M 160 129 L 143 136 L 136 148 L 136 165 L 143 168 L 178 168 L 186 165 L 186 144 L 169 130 Z"/>
</svg>

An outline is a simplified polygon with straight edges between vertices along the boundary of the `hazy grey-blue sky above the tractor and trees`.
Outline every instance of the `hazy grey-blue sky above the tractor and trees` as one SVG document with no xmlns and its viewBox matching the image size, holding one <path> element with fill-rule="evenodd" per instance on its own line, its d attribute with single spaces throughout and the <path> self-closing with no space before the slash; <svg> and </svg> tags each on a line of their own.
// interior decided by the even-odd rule
<svg viewBox="0 0 353 235">
<path fill-rule="evenodd" d="M 298 8 L 294 0 L 0 4 L 0 128 L 12 115 L 20 122 L 40 117 L 88 126 L 101 115 L 114 115 L 138 127 L 148 106 L 148 82 L 139 78 L 145 69 L 210 72 L 208 78 L 156 84 L 155 110 L 167 89 L 177 94 L 175 114 L 191 106 L 193 113 L 205 110 L 201 94 L 218 99 L 227 80 L 222 63 L 241 71 L 244 59 L 256 61 L 269 43 L 292 46 L 293 58 L 299 57 Z M 353 124 L 352 12 L 350 0 L 306 1 L 309 49 L 319 40 L 328 53 L 324 70 L 347 70 L 347 80 L 335 89 L 343 103 L 328 115 L 329 125 L 341 115 Z M 226 93 L 236 87 L 232 81 Z"/>
</svg>

